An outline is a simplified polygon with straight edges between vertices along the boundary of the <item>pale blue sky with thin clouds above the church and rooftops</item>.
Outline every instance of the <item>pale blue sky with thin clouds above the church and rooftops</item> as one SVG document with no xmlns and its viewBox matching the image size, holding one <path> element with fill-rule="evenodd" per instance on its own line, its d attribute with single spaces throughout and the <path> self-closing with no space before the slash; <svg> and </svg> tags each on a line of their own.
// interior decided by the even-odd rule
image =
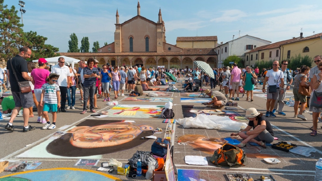
<svg viewBox="0 0 322 181">
<path fill-rule="evenodd" d="M 93 42 L 114 42 L 116 10 L 123 23 L 137 15 L 137 0 L 24 0 L 24 31 L 47 37 L 46 44 L 67 52 L 70 35 L 78 45 L 89 37 Z M 20 9 L 19 0 L 5 5 Z M 226 43 L 246 34 L 272 43 L 322 33 L 321 0 L 214 1 L 140 0 L 141 16 L 157 22 L 159 8 L 166 27 L 166 42 L 176 44 L 178 36 L 217 36 Z M 21 16 L 20 11 L 18 15 Z M 301 30 L 302 29 L 302 30 Z"/>
</svg>

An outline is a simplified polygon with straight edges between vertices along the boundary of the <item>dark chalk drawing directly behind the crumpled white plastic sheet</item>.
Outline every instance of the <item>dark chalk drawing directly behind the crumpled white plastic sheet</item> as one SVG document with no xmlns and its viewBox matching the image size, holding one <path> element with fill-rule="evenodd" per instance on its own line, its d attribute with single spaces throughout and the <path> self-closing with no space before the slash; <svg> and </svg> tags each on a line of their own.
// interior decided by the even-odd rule
<svg viewBox="0 0 322 181">
<path fill-rule="evenodd" d="M 220 110 L 220 109 L 206 109 L 203 106 L 193 106 L 193 105 L 182 105 L 182 112 L 184 118 L 193 117 L 195 118 L 198 114 L 205 115 L 216 115 L 216 116 L 228 116 L 233 121 L 248 122 L 248 119 L 244 118 L 242 115 L 233 110 Z"/>
</svg>

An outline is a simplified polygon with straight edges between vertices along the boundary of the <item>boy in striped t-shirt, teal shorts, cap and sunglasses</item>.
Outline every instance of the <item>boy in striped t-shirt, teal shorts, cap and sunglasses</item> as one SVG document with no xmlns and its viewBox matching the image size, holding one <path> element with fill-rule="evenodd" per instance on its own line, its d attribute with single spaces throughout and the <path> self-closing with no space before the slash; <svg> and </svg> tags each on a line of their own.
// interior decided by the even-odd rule
<svg viewBox="0 0 322 181">
<path fill-rule="evenodd" d="M 61 107 L 60 89 L 56 84 L 58 78 L 58 74 L 49 74 L 49 77 L 46 79 L 47 83 L 43 84 L 41 87 L 43 92 L 41 93 L 40 105 L 43 106 L 43 117 L 47 121 L 47 123 L 43 126 L 43 129 L 56 128 L 57 108 Z M 52 124 L 50 124 L 48 116 L 49 111 L 52 112 Z"/>
</svg>

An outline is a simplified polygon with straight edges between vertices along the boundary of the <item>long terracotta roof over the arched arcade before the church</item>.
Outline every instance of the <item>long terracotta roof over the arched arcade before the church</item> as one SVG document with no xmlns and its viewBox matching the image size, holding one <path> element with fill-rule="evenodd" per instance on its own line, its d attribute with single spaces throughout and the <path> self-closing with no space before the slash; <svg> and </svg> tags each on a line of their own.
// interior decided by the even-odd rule
<svg viewBox="0 0 322 181">
<path fill-rule="evenodd" d="M 180 55 L 217 55 L 213 48 L 183 48 L 182 52 L 121 52 L 121 53 L 67 53 L 59 52 L 64 56 L 180 56 Z"/>
</svg>

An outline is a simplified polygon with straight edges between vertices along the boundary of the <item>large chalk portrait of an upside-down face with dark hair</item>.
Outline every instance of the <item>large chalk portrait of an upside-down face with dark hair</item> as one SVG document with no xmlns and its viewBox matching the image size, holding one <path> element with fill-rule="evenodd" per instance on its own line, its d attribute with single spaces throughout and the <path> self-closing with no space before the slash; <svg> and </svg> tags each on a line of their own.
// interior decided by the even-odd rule
<svg viewBox="0 0 322 181">
<path fill-rule="evenodd" d="M 17 157 L 101 158 L 134 148 L 151 136 L 153 128 L 117 120 L 88 119 L 55 140 L 47 140 Z M 64 151 L 62 151 L 64 150 Z M 46 152 L 47 154 L 44 154 Z M 39 154 L 41 153 L 41 154 Z"/>
</svg>

